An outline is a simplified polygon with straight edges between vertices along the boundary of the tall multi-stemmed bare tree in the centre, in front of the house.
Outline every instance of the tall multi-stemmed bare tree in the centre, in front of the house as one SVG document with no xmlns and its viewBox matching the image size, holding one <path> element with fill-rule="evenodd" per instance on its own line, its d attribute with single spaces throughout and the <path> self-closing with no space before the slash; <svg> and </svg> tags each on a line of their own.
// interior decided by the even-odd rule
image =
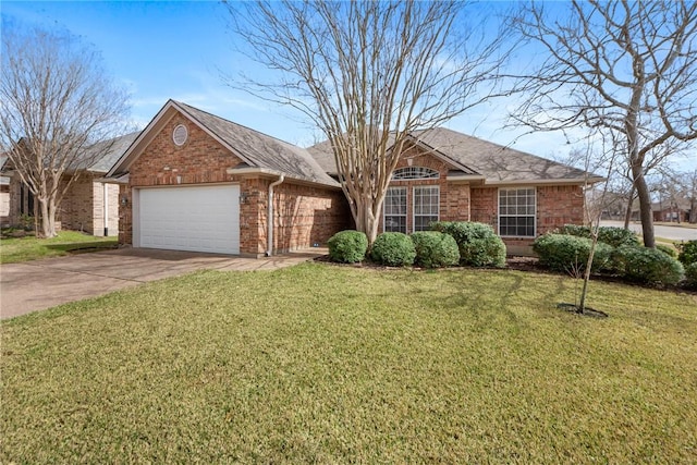
<svg viewBox="0 0 697 465">
<path fill-rule="evenodd" d="M 484 22 L 467 25 L 464 5 L 228 3 L 246 54 L 280 76 L 241 87 L 298 109 L 321 130 L 356 228 L 370 243 L 409 132 L 439 125 L 492 95 L 489 88 L 481 94 L 480 85 L 502 62 L 501 36 L 485 36 Z"/>
</svg>

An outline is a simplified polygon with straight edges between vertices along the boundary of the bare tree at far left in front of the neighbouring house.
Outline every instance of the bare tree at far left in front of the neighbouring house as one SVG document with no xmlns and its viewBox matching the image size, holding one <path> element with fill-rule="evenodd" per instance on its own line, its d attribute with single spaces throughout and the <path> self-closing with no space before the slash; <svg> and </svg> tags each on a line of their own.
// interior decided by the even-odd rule
<svg viewBox="0 0 697 465">
<path fill-rule="evenodd" d="M 2 24 L 0 144 L 38 201 L 40 235 L 56 235 L 61 200 L 120 135 L 127 95 L 101 57 L 68 32 Z M 98 147 L 98 148 L 97 148 Z"/>
</svg>

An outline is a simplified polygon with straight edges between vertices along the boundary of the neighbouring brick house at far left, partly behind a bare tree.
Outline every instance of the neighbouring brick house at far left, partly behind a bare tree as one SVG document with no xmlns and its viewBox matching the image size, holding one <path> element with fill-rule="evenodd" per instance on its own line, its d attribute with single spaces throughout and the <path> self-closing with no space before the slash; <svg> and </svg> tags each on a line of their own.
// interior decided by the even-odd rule
<svg viewBox="0 0 697 465">
<path fill-rule="evenodd" d="M 64 182 L 76 173 L 78 178 L 70 185 L 61 201 L 57 217 L 60 229 L 82 231 L 97 236 L 118 234 L 119 186 L 105 182 L 103 176 L 137 135 L 137 132 L 131 133 L 98 144 L 93 150 L 101 152 L 108 148 L 103 155 L 89 167 L 80 171 L 70 170 L 64 174 Z M 34 216 L 34 195 L 22 183 L 11 162 L 7 162 L 2 168 L 2 174 L 10 180 L 8 213 L 2 217 L 2 224 L 20 224 L 23 216 Z"/>
</svg>

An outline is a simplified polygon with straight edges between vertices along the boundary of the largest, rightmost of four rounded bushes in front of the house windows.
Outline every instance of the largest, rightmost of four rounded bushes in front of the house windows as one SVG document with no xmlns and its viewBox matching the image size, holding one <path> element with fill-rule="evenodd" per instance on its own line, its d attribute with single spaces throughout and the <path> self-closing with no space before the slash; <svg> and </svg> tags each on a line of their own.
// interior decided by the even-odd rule
<svg viewBox="0 0 697 465">
<path fill-rule="evenodd" d="M 460 249 L 460 265 L 505 267 L 505 244 L 489 224 L 470 221 L 439 221 L 431 229 L 453 236 Z"/>
</svg>

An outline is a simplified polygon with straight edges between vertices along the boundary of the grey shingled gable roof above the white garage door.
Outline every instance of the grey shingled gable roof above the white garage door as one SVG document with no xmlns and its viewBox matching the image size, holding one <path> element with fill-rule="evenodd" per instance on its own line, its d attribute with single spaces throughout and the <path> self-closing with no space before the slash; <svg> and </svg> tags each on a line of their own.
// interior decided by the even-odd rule
<svg viewBox="0 0 697 465">
<path fill-rule="evenodd" d="M 327 174 L 306 149 L 175 100 L 169 100 L 162 107 L 132 149 L 109 172 L 109 176 L 117 178 L 127 172 L 138 155 L 138 146 L 147 145 L 148 133 L 157 132 L 152 129 L 168 120 L 166 115 L 172 111 L 187 117 L 243 160 L 242 166 L 234 168 L 260 169 L 298 181 L 339 187 L 339 183 Z"/>
</svg>

